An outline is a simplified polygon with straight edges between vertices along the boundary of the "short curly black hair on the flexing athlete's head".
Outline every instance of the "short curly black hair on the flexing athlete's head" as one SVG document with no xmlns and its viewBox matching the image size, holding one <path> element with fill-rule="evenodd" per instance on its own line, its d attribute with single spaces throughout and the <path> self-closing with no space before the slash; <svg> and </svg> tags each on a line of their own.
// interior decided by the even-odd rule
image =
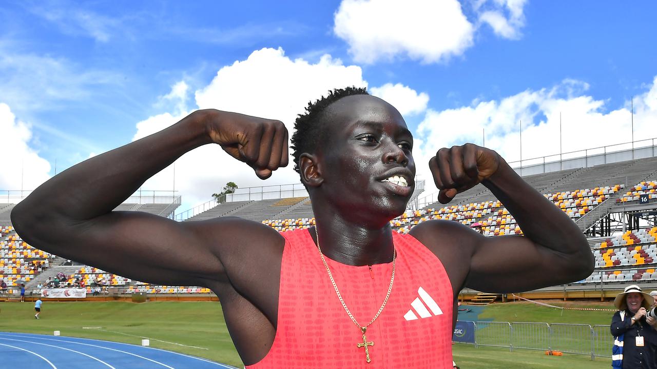
<svg viewBox="0 0 657 369">
<path fill-rule="evenodd" d="M 315 102 L 308 102 L 306 112 L 299 114 L 294 122 L 294 134 L 292 135 L 290 146 L 294 152 L 294 170 L 301 173 L 299 160 L 304 152 L 315 152 L 317 142 L 321 139 L 321 115 L 324 110 L 340 98 L 351 95 L 369 95 L 365 87 L 345 87 L 344 89 L 334 89 L 328 91 L 326 97 L 322 96 Z"/>
</svg>

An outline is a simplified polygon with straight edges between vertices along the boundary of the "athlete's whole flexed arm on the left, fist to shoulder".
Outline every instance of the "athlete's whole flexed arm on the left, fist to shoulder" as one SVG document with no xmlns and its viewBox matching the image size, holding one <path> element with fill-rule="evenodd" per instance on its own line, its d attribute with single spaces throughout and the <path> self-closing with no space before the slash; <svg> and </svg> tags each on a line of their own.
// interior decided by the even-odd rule
<svg viewBox="0 0 657 369">
<path fill-rule="evenodd" d="M 288 162 L 283 123 L 200 110 L 53 177 L 14 207 L 12 224 L 35 248 L 68 259 L 146 282 L 205 286 L 225 273 L 221 250 L 239 234 L 248 242 L 277 233 L 241 219 L 177 223 L 112 209 L 185 152 L 212 142 L 262 179 Z"/>
</svg>

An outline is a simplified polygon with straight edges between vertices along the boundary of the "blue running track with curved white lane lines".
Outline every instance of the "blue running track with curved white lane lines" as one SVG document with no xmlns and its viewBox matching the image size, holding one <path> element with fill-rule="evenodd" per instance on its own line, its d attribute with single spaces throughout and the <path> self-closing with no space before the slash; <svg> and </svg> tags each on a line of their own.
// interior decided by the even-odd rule
<svg viewBox="0 0 657 369">
<path fill-rule="evenodd" d="M 0 369 L 234 369 L 173 351 L 63 336 L 0 332 Z"/>
</svg>

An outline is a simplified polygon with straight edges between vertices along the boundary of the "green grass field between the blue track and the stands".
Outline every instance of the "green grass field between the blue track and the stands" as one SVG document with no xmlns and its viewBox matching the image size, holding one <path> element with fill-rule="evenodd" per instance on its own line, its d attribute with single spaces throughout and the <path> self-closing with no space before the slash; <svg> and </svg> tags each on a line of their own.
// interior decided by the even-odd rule
<svg viewBox="0 0 657 369">
<path fill-rule="evenodd" d="M 563 305 L 564 303 L 553 303 Z M 571 307 L 610 309 L 611 304 L 566 303 Z M 571 324 L 609 324 L 611 312 L 561 311 L 531 303 L 488 305 L 480 320 L 498 322 L 549 322 Z M 152 301 L 129 302 L 49 302 L 42 307 L 41 319 L 34 318 L 34 303 L 0 303 L 0 331 L 53 334 L 105 339 L 141 344 L 150 339 L 152 347 L 209 358 L 234 366 L 242 362 L 228 335 L 221 305 L 213 302 Z M 611 343 L 609 343 L 611 350 Z M 608 358 L 592 361 L 585 355 L 549 357 L 542 351 L 478 347 L 455 344 L 454 358 L 463 369 L 526 368 L 607 368 Z"/>
</svg>

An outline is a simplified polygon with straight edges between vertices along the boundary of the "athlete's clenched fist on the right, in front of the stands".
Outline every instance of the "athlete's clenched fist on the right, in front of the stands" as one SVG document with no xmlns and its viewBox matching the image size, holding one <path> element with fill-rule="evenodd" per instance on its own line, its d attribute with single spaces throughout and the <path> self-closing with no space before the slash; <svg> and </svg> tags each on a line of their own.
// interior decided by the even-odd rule
<svg viewBox="0 0 657 369">
<path fill-rule="evenodd" d="M 501 160 L 497 152 L 476 144 L 441 148 L 429 160 L 429 169 L 440 190 L 438 201 L 447 204 L 458 193 L 488 179 Z"/>
</svg>

